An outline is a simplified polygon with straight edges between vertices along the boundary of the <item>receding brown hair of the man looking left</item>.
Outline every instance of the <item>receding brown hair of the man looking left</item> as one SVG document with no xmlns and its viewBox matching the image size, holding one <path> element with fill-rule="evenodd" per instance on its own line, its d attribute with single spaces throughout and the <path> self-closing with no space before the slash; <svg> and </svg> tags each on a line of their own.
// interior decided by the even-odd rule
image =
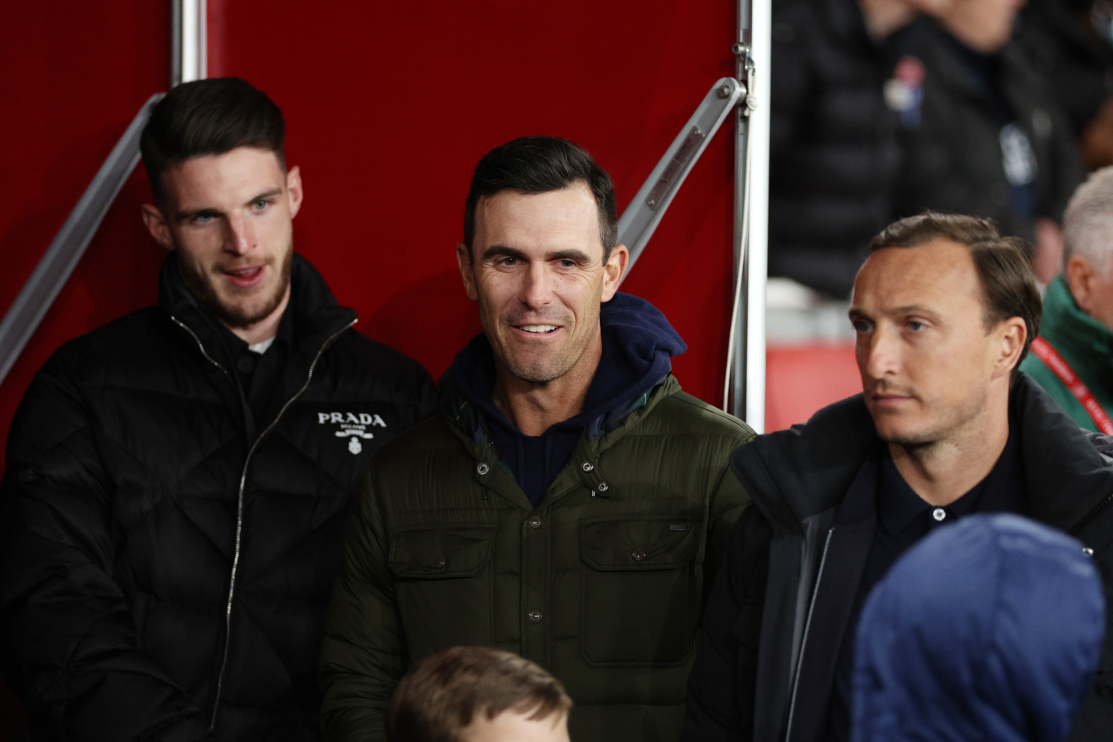
<svg viewBox="0 0 1113 742">
<path fill-rule="evenodd" d="M 1027 328 L 1013 375 L 1028 355 L 1032 340 L 1040 334 L 1043 301 L 1032 273 L 1024 241 L 1002 237 L 992 219 L 959 214 L 924 214 L 894 221 L 869 243 L 870 251 L 884 247 L 918 247 L 933 239 L 949 239 L 967 247 L 974 259 L 985 306 L 982 321 L 988 333 L 1012 317 L 1020 317 Z"/>
</svg>

